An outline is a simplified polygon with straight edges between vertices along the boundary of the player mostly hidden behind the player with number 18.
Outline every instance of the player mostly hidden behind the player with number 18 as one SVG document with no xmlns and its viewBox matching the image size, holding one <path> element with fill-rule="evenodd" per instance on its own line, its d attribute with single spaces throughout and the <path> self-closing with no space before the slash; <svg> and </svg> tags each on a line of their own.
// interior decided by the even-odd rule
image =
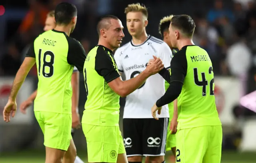
<svg viewBox="0 0 256 163">
<path fill-rule="evenodd" d="M 54 10 L 50 11 L 47 14 L 47 18 L 45 20 L 44 31 L 52 30 L 56 27 L 54 20 Z M 78 96 L 79 96 L 79 72 L 76 67 L 74 67 L 74 71 L 71 77 L 71 85 L 72 85 L 72 131 L 71 135 L 74 137 L 75 130 L 80 127 L 80 118 L 78 113 Z M 37 90 L 34 91 L 30 97 L 26 101 L 23 101 L 20 104 L 20 111 L 22 113 L 26 113 L 26 109 L 33 103 L 36 98 Z M 74 145 L 73 143 L 70 145 Z M 72 149 L 76 149 L 73 147 Z M 74 163 L 84 163 L 78 156 L 76 156 L 76 151 L 70 153 L 72 157 L 76 157 Z"/>
</svg>

